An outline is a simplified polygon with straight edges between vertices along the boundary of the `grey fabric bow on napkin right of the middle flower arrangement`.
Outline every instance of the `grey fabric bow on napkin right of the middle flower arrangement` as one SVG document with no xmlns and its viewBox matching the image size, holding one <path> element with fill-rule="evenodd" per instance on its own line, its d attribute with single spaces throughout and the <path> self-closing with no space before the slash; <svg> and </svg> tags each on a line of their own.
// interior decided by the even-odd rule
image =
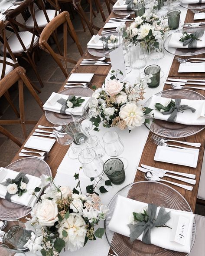
<svg viewBox="0 0 205 256">
<path fill-rule="evenodd" d="M 185 109 L 191 109 L 192 113 L 196 111 L 195 108 L 189 107 L 188 105 L 180 105 L 180 103 L 181 99 L 175 99 L 175 106 L 170 108 L 169 111 L 162 112 L 163 115 L 171 114 L 170 117 L 167 119 L 168 122 L 174 123 L 176 121 L 177 112 L 183 112 L 183 110 Z"/>
</svg>

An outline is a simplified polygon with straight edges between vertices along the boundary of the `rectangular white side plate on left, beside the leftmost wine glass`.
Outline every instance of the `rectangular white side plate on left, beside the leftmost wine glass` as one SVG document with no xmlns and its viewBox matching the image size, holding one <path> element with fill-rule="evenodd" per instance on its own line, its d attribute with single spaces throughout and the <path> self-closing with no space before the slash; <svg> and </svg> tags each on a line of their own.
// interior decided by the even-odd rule
<svg viewBox="0 0 205 256">
<path fill-rule="evenodd" d="M 24 145 L 25 148 L 33 148 L 49 152 L 55 143 L 55 139 L 43 138 L 38 136 L 30 136 Z"/>
</svg>

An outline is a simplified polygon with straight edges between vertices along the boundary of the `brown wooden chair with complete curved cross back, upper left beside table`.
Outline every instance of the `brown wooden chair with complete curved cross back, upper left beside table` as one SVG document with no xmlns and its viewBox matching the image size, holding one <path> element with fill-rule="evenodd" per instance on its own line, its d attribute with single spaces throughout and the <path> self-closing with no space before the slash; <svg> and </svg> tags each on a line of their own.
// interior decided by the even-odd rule
<svg viewBox="0 0 205 256">
<path fill-rule="evenodd" d="M 57 53 L 55 53 L 55 51 L 53 51 L 52 47 L 48 44 L 48 40 L 49 40 L 49 37 L 53 34 L 53 32 L 55 30 L 57 30 L 57 28 L 59 26 L 61 26 L 62 24 L 63 24 L 63 54 L 61 55 L 61 54 L 57 54 Z M 75 29 L 72 25 L 69 13 L 67 11 L 60 13 L 54 19 L 52 19 L 49 22 L 49 24 L 46 25 L 46 27 L 42 31 L 40 38 L 39 38 L 39 46 L 41 47 L 41 49 L 43 49 L 44 51 L 51 54 L 54 61 L 61 68 L 65 77 L 68 77 L 67 62 L 70 62 L 73 64 L 77 63 L 77 61 L 72 60 L 67 57 L 67 32 L 68 32 L 68 29 L 69 29 L 70 33 L 72 34 L 72 38 L 78 47 L 78 51 L 82 55 L 83 54 L 82 47 L 79 43 L 77 34 L 75 33 Z M 63 67 L 62 61 L 65 63 L 65 67 Z"/>
</svg>

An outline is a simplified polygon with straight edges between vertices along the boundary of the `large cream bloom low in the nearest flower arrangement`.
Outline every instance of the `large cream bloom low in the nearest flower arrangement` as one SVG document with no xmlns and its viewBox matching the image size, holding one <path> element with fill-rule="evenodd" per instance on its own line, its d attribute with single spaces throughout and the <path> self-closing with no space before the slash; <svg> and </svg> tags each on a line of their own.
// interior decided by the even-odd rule
<svg viewBox="0 0 205 256">
<path fill-rule="evenodd" d="M 68 236 L 63 236 L 65 230 Z M 60 223 L 59 237 L 65 241 L 65 249 L 71 252 L 83 247 L 86 236 L 86 224 L 84 219 L 77 213 L 71 213 L 68 219 Z"/>
</svg>

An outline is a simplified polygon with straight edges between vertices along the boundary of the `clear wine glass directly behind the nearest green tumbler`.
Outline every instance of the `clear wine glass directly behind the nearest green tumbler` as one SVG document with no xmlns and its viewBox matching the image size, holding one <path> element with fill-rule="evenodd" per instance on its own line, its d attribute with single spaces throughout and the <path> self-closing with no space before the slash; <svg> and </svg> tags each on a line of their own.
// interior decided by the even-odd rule
<svg viewBox="0 0 205 256">
<path fill-rule="evenodd" d="M 123 142 L 116 131 L 107 131 L 103 135 L 104 150 L 107 155 L 117 157 L 124 152 Z M 124 168 L 127 168 L 127 159 L 120 157 L 124 163 Z"/>
</svg>

